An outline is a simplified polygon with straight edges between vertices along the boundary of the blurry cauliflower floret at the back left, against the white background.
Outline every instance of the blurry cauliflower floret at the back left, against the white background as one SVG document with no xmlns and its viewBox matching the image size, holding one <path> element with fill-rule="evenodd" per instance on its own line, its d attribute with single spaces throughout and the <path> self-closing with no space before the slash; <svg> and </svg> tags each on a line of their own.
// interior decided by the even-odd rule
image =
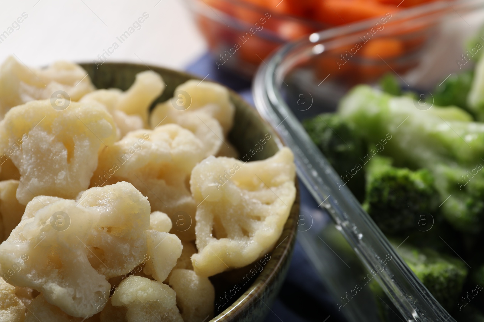
<svg viewBox="0 0 484 322">
<path fill-rule="evenodd" d="M 31 100 L 47 99 L 59 90 L 78 101 L 94 90 L 91 78 L 79 65 L 57 61 L 44 69 L 27 67 L 14 57 L 0 66 L 0 119 L 12 107 Z"/>
</svg>

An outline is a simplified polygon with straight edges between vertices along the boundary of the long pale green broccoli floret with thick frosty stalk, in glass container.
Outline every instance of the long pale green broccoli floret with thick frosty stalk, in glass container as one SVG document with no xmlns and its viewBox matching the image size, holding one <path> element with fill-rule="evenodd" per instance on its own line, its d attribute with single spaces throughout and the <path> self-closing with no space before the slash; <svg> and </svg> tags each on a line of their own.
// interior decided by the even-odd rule
<svg viewBox="0 0 484 322">
<path fill-rule="evenodd" d="M 367 85 L 355 87 L 339 114 L 369 143 L 388 138 L 383 154 L 396 166 L 428 168 L 439 191 L 442 214 L 462 232 L 479 232 L 484 219 L 484 123 L 457 107 L 428 110 L 407 97 Z"/>
</svg>

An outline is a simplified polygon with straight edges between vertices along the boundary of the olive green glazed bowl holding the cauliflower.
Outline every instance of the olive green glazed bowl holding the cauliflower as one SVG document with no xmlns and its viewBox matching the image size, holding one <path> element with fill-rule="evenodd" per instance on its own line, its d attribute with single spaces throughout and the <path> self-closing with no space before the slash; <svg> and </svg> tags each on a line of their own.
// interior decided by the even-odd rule
<svg viewBox="0 0 484 322">
<path fill-rule="evenodd" d="M 162 76 L 166 89 L 156 99 L 153 106 L 173 97 L 175 87 L 178 85 L 189 79 L 199 79 L 184 72 L 147 65 L 127 63 L 104 63 L 97 66 L 89 63 L 80 65 L 88 72 L 92 83 L 97 88 L 116 87 L 126 90 L 133 84 L 138 72 L 144 70 L 157 72 Z M 237 93 L 230 91 L 230 99 L 235 105 L 236 111 L 234 126 L 228 135 L 228 140 L 236 147 L 239 155 L 251 154 L 251 150 L 254 151 L 255 145 L 260 144 L 259 140 L 263 139 L 266 134 L 269 134 L 271 139 L 267 140 L 262 150 L 251 154 L 250 159 L 263 160 L 275 154 L 282 143 L 274 129 L 262 120 L 257 111 Z M 210 278 L 215 287 L 215 317 L 203 322 L 263 321 L 270 312 L 270 306 L 286 277 L 296 241 L 300 200 L 297 182 L 296 188 L 296 200 L 274 250 L 251 265 L 220 273 Z"/>
</svg>

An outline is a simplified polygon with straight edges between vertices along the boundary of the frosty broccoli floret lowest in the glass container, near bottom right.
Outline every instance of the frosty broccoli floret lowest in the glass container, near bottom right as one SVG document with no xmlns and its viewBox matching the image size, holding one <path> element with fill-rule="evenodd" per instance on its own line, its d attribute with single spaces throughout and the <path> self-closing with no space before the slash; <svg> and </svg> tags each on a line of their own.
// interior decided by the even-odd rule
<svg viewBox="0 0 484 322">
<path fill-rule="evenodd" d="M 456 306 L 468 273 L 463 261 L 409 244 L 400 245 L 397 252 L 443 308 L 450 311 Z"/>
</svg>

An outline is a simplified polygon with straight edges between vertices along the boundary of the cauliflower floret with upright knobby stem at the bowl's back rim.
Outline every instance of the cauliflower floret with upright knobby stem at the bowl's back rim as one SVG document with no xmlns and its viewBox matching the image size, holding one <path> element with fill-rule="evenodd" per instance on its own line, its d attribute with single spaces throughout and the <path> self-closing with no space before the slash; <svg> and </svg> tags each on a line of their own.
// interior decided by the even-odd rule
<svg viewBox="0 0 484 322">
<path fill-rule="evenodd" d="M 151 70 L 136 74 L 135 83 L 122 92 L 118 88 L 98 89 L 84 96 L 81 101 L 96 101 L 103 104 L 113 116 L 121 137 L 129 131 L 148 125 L 148 110 L 151 103 L 165 89 L 161 76 Z"/>
</svg>

